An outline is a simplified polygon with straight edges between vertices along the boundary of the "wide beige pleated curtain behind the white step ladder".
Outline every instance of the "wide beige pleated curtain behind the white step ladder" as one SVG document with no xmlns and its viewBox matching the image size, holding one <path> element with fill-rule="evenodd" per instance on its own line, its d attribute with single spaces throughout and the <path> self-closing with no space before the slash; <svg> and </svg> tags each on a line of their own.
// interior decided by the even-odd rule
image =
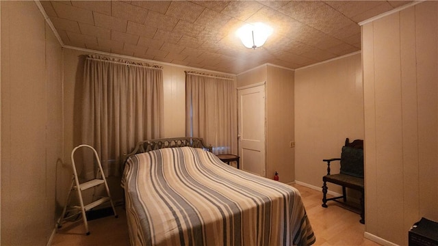
<svg viewBox="0 0 438 246">
<path fill-rule="evenodd" d="M 82 88 L 82 142 L 96 149 L 106 176 L 119 176 L 124 154 L 161 136 L 162 68 L 88 56 Z M 83 168 L 86 177 L 94 172 Z"/>
</svg>

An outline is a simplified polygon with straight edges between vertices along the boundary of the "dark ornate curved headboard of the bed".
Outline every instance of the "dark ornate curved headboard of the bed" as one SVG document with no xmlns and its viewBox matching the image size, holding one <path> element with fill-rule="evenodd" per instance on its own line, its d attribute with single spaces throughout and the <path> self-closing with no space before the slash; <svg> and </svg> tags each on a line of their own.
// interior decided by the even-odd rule
<svg viewBox="0 0 438 246">
<path fill-rule="evenodd" d="M 144 152 L 149 152 L 151 150 L 159 150 L 162 148 L 174 148 L 174 147 L 193 147 L 193 148 L 203 148 L 211 152 L 213 150 L 212 146 L 206 146 L 202 138 L 199 137 L 174 137 L 165 139 L 151 139 L 144 140 L 137 143 L 134 150 L 125 155 L 123 158 L 123 163 L 127 161 L 130 156 L 134 154 L 140 154 Z"/>
</svg>

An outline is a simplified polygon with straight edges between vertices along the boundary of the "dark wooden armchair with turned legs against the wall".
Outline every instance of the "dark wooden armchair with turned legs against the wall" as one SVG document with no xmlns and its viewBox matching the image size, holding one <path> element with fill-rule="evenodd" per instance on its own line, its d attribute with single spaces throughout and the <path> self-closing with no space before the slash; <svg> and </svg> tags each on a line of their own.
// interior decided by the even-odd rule
<svg viewBox="0 0 438 246">
<path fill-rule="evenodd" d="M 350 143 L 347 138 L 345 146 L 342 147 L 341 158 L 324 159 L 327 163 L 327 175 L 322 177 L 324 184 L 322 185 L 322 206 L 327 207 L 327 201 L 347 202 L 346 187 L 355 189 L 361 192 L 361 220 L 359 222 L 365 223 L 365 189 L 363 182 L 363 140 L 356 139 Z M 332 161 L 340 161 L 341 169 L 339 174 L 331 174 L 330 163 Z M 327 182 L 338 184 L 342 186 L 342 196 L 327 198 Z"/>
</svg>

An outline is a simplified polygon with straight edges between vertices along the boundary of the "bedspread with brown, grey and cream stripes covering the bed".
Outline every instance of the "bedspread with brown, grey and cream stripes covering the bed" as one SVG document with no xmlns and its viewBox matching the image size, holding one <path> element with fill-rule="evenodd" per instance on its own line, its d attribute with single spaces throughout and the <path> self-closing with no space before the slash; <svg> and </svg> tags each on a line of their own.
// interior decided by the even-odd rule
<svg viewBox="0 0 438 246">
<path fill-rule="evenodd" d="M 132 156 L 122 180 L 131 245 L 311 245 L 300 194 L 200 148 Z"/>
</svg>

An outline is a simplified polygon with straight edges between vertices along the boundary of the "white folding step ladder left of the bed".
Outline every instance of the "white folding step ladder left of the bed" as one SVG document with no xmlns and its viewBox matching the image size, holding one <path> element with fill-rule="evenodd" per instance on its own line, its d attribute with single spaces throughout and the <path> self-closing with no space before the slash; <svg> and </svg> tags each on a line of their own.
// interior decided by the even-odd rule
<svg viewBox="0 0 438 246">
<path fill-rule="evenodd" d="M 77 177 L 77 171 L 76 171 L 76 166 L 75 166 L 74 154 L 75 154 L 75 151 L 77 149 L 82 148 L 82 147 L 90 148 L 93 150 L 94 159 L 96 159 L 98 168 L 97 168 L 96 176 L 93 180 L 79 183 L 79 178 Z M 72 168 L 73 168 L 73 178 L 72 178 L 72 182 L 70 185 L 70 190 L 68 191 L 66 205 L 64 206 L 64 209 L 62 210 L 62 215 L 61 215 L 60 219 L 58 219 L 58 221 L 57 221 L 57 228 L 62 227 L 62 222 L 66 221 L 68 219 L 71 219 L 73 217 L 77 217 L 79 215 L 79 213 L 81 213 L 83 223 L 85 225 L 86 234 L 90 235 L 90 230 L 88 230 L 86 211 L 88 211 L 92 208 L 95 208 L 96 206 L 99 206 L 105 202 L 110 202 L 111 206 L 112 206 L 112 210 L 114 212 L 114 217 L 117 218 L 118 216 L 116 213 L 116 208 L 114 208 L 114 203 L 112 202 L 112 198 L 110 195 L 110 189 L 108 188 L 108 184 L 107 184 L 107 181 L 105 179 L 105 174 L 103 174 L 101 161 L 99 159 L 99 156 L 98 156 L 96 150 L 94 150 L 94 148 L 92 148 L 91 146 L 89 146 L 87 144 L 81 144 L 81 145 L 77 146 L 76 148 L 74 148 L 71 152 L 71 164 L 72 164 Z M 91 189 L 91 188 L 97 187 L 101 184 L 105 185 L 105 189 L 107 191 L 107 196 L 101 197 L 98 200 L 91 202 L 90 204 L 84 205 L 83 199 L 82 199 L 82 191 L 85 191 L 86 189 Z M 80 203 L 79 206 L 70 206 L 69 205 L 72 191 L 77 191 L 77 197 L 79 198 L 79 203 Z"/>
</svg>

